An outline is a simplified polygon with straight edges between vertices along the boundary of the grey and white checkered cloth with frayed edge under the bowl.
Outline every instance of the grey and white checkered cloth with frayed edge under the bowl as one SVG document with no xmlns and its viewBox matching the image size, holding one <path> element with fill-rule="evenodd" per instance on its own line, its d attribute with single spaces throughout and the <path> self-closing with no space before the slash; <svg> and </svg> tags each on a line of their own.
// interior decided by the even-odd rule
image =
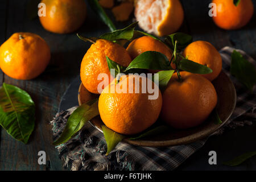
<svg viewBox="0 0 256 182">
<path fill-rule="evenodd" d="M 230 75 L 230 61 L 233 48 L 221 49 L 223 70 L 232 79 L 237 91 L 237 106 L 228 121 L 215 134 L 221 134 L 225 128 L 251 125 L 255 120 L 255 92 L 250 93 L 240 82 Z M 245 52 L 237 50 L 255 65 L 255 61 Z M 57 113 L 51 121 L 53 140 L 56 140 L 67 123 L 69 115 L 77 106 Z M 241 121 L 242 117 L 242 121 Z M 239 119 L 240 118 L 240 119 Z M 79 131 L 75 138 L 56 146 L 59 156 L 64 160 L 64 167 L 71 170 L 172 170 L 199 150 L 207 139 L 173 147 L 140 147 L 120 142 L 108 156 L 104 135 L 89 123 Z"/>
</svg>

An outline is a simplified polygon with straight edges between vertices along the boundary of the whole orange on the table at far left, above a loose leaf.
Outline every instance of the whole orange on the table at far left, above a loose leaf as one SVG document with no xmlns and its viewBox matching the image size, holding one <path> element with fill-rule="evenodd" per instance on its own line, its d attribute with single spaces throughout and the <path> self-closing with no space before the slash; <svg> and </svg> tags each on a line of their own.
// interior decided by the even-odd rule
<svg viewBox="0 0 256 182">
<path fill-rule="evenodd" d="M 0 47 L 0 68 L 18 80 L 30 80 L 46 69 L 51 52 L 39 35 L 18 32 Z"/>
</svg>

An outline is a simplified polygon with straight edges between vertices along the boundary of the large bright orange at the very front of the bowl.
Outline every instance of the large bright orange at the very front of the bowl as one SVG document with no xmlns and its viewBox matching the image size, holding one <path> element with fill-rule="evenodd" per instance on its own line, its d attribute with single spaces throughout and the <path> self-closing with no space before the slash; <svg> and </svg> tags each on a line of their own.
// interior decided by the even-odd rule
<svg viewBox="0 0 256 182">
<path fill-rule="evenodd" d="M 149 100 L 148 95 L 150 94 L 142 93 L 141 87 L 139 93 L 128 93 L 128 83 L 133 82 L 136 77 L 138 78 L 135 75 L 126 76 L 117 85 L 114 84 L 114 80 L 103 90 L 98 101 L 98 110 L 102 121 L 110 129 L 120 134 L 133 135 L 146 130 L 158 119 L 162 108 L 162 94 L 155 84 L 159 93 L 155 100 Z M 149 81 L 151 84 L 154 83 Z M 127 84 L 127 93 L 118 93 L 117 91 L 110 93 L 110 89 L 118 89 L 120 84 Z M 133 88 L 135 88 L 134 85 L 133 82 Z"/>
</svg>

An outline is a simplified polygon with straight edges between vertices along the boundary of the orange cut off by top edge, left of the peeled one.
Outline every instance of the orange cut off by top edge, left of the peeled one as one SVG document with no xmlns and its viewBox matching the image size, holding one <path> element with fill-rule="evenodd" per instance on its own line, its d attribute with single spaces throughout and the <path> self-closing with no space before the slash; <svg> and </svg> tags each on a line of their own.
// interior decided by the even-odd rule
<svg viewBox="0 0 256 182">
<path fill-rule="evenodd" d="M 40 16 L 42 26 L 50 32 L 67 34 L 84 23 L 86 4 L 84 0 L 42 0 L 46 4 L 46 16 Z"/>
</svg>

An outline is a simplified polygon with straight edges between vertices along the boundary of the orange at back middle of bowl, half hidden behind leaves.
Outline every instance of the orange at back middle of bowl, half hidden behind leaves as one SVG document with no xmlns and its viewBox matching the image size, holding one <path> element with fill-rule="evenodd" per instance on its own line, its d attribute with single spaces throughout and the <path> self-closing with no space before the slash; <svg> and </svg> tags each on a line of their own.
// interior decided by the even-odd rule
<svg viewBox="0 0 256 182">
<path fill-rule="evenodd" d="M 168 60 L 172 58 L 172 51 L 166 46 L 166 44 L 151 38 L 151 36 L 142 36 L 141 38 L 134 39 L 126 48 L 131 56 L 131 59 L 134 59 L 141 53 L 146 51 L 156 51 L 163 53 Z M 171 67 L 175 68 L 175 64 L 171 63 Z"/>
</svg>

